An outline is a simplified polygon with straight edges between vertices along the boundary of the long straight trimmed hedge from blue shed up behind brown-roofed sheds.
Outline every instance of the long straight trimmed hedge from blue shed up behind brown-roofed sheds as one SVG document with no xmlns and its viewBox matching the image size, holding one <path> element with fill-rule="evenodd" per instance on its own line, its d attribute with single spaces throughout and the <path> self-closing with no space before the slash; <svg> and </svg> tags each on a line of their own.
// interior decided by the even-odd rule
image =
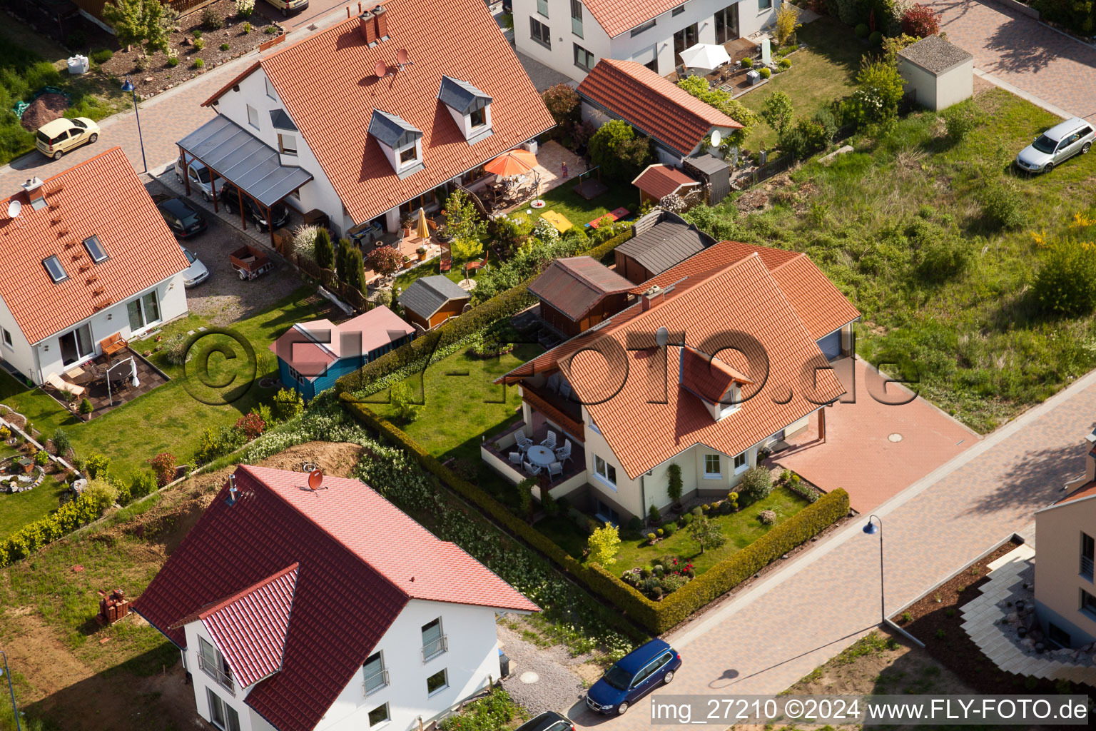
<svg viewBox="0 0 1096 731">
<path fill-rule="evenodd" d="M 629 238 L 631 238 L 630 229 L 620 236 L 587 249 L 583 255 L 601 261 Z M 335 391 L 338 393 L 361 391 L 374 380 L 393 370 L 422 363 L 424 358 L 430 357 L 430 353 L 435 349 L 441 350 L 446 347 L 489 324 L 521 312 L 536 301 L 536 298 L 527 292 L 529 284 L 535 278 L 529 277 L 516 287 L 507 289 L 482 305 L 473 307 L 460 317 L 449 320 L 437 330 L 432 330 L 426 335 L 416 338 L 410 343 L 397 347 L 395 351 L 389 351 L 376 361 L 367 363 L 358 370 L 346 374 L 336 381 Z"/>
</svg>

